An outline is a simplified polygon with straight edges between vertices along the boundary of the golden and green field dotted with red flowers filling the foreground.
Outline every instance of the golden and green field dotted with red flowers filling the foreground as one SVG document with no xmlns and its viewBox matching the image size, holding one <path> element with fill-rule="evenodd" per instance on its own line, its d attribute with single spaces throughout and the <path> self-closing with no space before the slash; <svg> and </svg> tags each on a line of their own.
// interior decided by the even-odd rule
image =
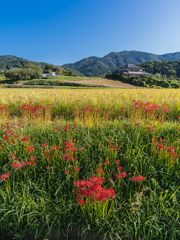
<svg viewBox="0 0 180 240">
<path fill-rule="evenodd" d="M 1 89 L 2 239 L 180 239 L 179 96 Z"/>
</svg>

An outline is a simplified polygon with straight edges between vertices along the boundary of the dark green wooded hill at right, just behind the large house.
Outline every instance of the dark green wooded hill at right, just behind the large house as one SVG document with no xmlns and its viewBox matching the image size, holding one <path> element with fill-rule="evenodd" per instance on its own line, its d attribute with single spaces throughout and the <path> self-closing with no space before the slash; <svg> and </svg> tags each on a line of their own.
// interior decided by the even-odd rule
<svg viewBox="0 0 180 240">
<path fill-rule="evenodd" d="M 175 76 L 180 78 L 180 60 L 166 60 L 158 62 L 148 61 L 138 65 L 144 67 L 146 72 L 153 74 L 160 73 L 161 75 L 166 75 L 167 77 Z"/>
</svg>

